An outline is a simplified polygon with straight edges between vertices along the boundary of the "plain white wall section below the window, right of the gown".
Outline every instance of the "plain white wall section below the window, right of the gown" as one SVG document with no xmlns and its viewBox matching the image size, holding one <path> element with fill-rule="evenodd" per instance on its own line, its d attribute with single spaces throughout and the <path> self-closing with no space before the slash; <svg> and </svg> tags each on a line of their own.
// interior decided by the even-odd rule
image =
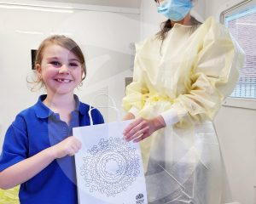
<svg viewBox="0 0 256 204">
<path fill-rule="evenodd" d="M 255 203 L 256 111 L 223 106 L 215 126 L 225 168 L 223 201 Z"/>
</svg>

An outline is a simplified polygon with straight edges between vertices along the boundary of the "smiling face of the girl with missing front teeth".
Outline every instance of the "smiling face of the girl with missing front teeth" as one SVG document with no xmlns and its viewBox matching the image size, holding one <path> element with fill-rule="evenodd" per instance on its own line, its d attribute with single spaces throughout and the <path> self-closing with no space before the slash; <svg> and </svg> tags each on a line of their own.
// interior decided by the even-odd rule
<svg viewBox="0 0 256 204">
<path fill-rule="evenodd" d="M 84 73 L 79 58 L 56 44 L 44 48 L 42 63 L 36 68 L 47 94 L 73 94 Z"/>
</svg>

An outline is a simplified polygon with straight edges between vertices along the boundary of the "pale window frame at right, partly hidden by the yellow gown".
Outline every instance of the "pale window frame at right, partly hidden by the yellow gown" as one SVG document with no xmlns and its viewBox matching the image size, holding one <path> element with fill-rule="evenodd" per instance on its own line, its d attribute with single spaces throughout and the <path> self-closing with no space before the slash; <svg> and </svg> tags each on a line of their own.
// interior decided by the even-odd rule
<svg viewBox="0 0 256 204">
<path fill-rule="evenodd" d="M 219 15 L 220 23 L 224 24 L 224 18 L 227 14 L 236 14 L 241 10 L 250 8 L 252 5 L 256 5 L 256 0 L 245 0 L 241 3 L 236 3 L 229 8 L 224 9 Z M 236 98 L 236 97 L 227 97 L 224 100 L 223 106 L 230 106 L 243 109 L 256 110 L 256 99 L 252 98 Z"/>
</svg>

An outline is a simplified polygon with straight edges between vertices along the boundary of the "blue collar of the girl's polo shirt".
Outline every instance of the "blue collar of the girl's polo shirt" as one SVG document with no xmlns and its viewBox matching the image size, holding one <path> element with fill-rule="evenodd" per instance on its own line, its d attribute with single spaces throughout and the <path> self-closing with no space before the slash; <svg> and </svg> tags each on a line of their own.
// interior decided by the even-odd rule
<svg viewBox="0 0 256 204">
<path fill-rule="evenodd" d="M 46 94 L 39 96 L 38 102 L 35 105 L 36 115 L 39 118 L 47 118 L 47 117 L 55 114 L 46 105 L 44 105 L 43 101 L 44 101 L 44 99 L 46 99 L 46 96 L 47 96 Z M 76 94 L 74 94 L 73 98 L 76 101 L 76 108 L 74 111 L 79 111 L 82 115 L 85 115 L 86 110 L 83 107 L 84 105 L 79 101 L 79 97 Z"/>
</svg>

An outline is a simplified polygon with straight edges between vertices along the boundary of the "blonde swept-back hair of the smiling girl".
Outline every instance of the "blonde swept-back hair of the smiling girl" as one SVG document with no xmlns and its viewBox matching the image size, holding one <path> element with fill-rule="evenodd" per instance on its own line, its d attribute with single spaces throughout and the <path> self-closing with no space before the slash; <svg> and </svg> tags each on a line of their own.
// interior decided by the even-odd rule
<svg viewBox="0 0 256 204">
<path fill-rule="evenodd" d="M 85 59 L 84 59 L 84 54 L 81 50 L 81 48 L 79 48 L 79 45 L 73 41 L 73 39 L 63 36 L 63 35 L 54 35 L 54 36 L 50 36 L 47 37 L 46 39 L 44 39 L 43 42 L 41 42 L 37 54 L 36 54 L 36 59 L 34 62 L 34 67 L 36 67 L 36 65 L 41 65 L 42 63 L 42 59 L 44 56 L 44 49 L 49 46 L 49 45 L 59 45 L 62 48 L 66 48 L 67 50 L 69 50 L 70 52 L 72 52 L 78 59 L 80 64 L 82 65 L 82 70 L 84 71 L 84 77 L 82 78 L 82 81 L 84 80 L 85 76 L 86 76 L 86 66 L 85 66 Z M 34 84 L 34 86 L 31 88 L 32 91 L 36 90 L 36 87 L 43 88 L 44 87 L 44 81 L 42 80 L 41 77 L 38 77 L 36 79 L 33 79 L 32 82 L 29 82 L 28 80 L 26 80 L 26 82 Z"/>
</svg>

